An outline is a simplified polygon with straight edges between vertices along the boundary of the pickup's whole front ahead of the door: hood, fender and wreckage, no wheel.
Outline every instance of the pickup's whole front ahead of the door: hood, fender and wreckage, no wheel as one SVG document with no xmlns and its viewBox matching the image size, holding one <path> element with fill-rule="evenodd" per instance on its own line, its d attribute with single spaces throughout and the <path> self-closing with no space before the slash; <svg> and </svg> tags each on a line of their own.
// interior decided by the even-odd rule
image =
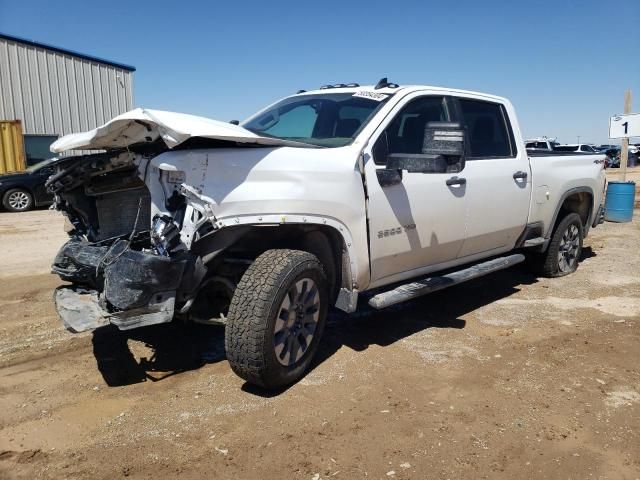
<svg viewBox="0 0 640 480">
<path fill-rule="evenodd" d="M 329 301 L 353 311 L 346 224 L 366 222 L 362 172 L 351 149 L 324 148 L 146 109 L 58 139 L 53 152 L 100 152 L 56 160 L 46 183 L 70 237 L 52 266 L 71 283 L 55 293 L 64 325 L 226 324 L 243 275 L 274 249 L 315 255 Z M 364 245 L 364 228 L 355 231 Z"/>
</svg>

